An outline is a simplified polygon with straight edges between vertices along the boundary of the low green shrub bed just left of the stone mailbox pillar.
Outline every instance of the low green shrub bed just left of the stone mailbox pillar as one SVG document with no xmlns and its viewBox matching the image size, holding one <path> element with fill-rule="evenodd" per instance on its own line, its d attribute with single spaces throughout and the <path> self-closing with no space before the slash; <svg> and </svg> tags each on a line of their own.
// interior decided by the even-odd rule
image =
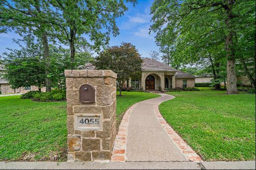
<svg viewBox="0 0 256 170">
<path fill-rule="evenodd" d="M 52 101 L 52 100 L 64 100 L 66 99 L 65 91 L 52 90 L 51 92 L 42 92 L 33 95 L 34 100 L 39 101 Z"/>
</svg>

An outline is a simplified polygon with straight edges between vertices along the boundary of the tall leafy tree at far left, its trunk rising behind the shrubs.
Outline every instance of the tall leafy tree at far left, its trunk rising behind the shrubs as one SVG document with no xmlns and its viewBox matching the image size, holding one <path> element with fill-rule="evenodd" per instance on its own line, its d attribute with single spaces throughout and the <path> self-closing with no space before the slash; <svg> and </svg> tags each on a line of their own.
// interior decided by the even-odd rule
<svg viewBox="0 0 256 170">
<path fill-rule="evenodd" d="M 43 44 L 46 91 L 51 91 L 49 74 L 48 33 L 52 31 L 50 17 L 45 12 L 46 5 L 38 0 L 1 0 L 0 1 L 0 32 L 15 30 L 20 36 L 32 33 Z"/>
</svg>

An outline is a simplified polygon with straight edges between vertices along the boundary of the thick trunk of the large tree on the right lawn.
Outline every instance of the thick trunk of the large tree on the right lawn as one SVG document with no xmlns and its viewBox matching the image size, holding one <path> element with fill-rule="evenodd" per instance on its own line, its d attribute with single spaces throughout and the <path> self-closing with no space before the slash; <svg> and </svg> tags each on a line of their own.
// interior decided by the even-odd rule
<svg viewBox="0 0 256 170">
<path fill-rule="evenodd" d="M 232 7 L 233 0 L 228 0 L 227 5 L 227 19 L 225 21 L 229 33 L 225 37 L 225 48 L 227 51 L 227 93 L 226 94 L 238 94 L 236 87 L 236 63 L 235 63 L 235 53 L 233 47 L 233 32 L 230 20 L 232 20 Z"/>
</svg>

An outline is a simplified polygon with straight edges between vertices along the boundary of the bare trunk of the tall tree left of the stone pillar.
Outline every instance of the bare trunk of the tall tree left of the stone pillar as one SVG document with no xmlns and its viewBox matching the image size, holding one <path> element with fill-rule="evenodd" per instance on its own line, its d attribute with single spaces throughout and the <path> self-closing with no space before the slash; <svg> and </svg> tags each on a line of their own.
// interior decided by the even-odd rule
<svg viewBox="0 0 256 170">
<path fill-rule="evenodd" d="M 47 33 L 45 31 L 42 33 L 42 42 L 44 46 L 45 87 L 46 87 L 46 92 L 49 92 L 52 90 L 52 87 L 51 87 L 52 83 L 51 83 L 51 80 L 47 77 L 49 74 L 50 59 L 49 59 L 48 38 L 47 38 Z"/>
</svg>

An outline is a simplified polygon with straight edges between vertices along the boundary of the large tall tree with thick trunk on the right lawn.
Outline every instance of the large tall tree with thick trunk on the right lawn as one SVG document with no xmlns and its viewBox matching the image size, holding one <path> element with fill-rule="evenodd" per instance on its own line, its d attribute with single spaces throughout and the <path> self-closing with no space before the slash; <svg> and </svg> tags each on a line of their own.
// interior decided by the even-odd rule
<svg viewBox="0 0 256 170">
<path fill-rule="evenodd" d="M 235 31 L 241 29 L 239 20 L 254 17 L 255 1 L 236 0 L 155 0 L 151 7 L 153 25 L 151 30 L 162 31 L 166 40 L 184 48 L 201 48 L 206 44 L 215 45 L 224 37 L 224 49 L 227 60 L 227 94 L 238 93 L 236 88 L 236 69 L 234 44 Z M 250 23 L 252 24 L 252 23 Z M 187 34 L 189 32 L 189 34 Z M 213 39 L 210 39 L 210 38 Z M 215 37 L 215 38 L 214 38 Z M 218 38 L 219 37 L 219 38 Z M 199 40 L 200 44 L 189 41 Z M 212 42 L 213 40 L 213 42 Z M 186 42 L 186 43 L 184 43 Z M 176 52 L 177 48 L 175 48 Z M 193 58 L 190 56 L 190 58 Z M 195 56 L 196 58 L 196 56 Z"/>
</svg>

